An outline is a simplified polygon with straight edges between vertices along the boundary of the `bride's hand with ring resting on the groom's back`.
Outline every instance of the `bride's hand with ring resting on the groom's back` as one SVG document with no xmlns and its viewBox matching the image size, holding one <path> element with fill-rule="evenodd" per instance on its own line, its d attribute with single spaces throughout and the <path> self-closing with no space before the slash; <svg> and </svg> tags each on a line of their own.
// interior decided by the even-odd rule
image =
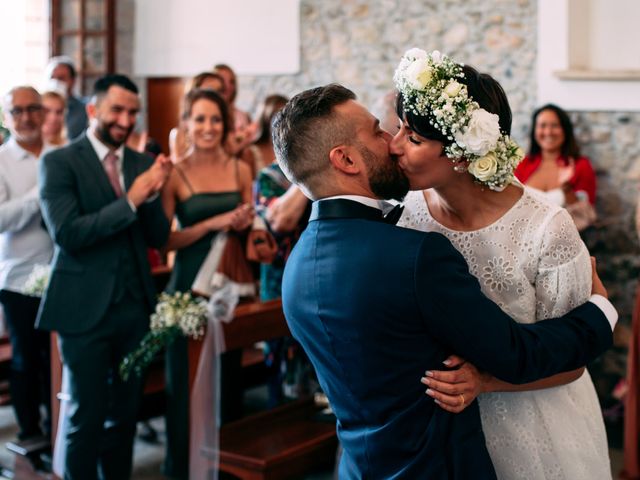
<svg viewBox="0 0 640 480">
<path fill-rule="evenodd" d="M 444 362 L 448 370 L 427 370 L 420 381 L 428 388 L 425 392 L 440 408 L 459 413 L 467 408 L 478 395 L 488 391 L 491 375 L 482 373 L 457 355 Z"/>
</svg>

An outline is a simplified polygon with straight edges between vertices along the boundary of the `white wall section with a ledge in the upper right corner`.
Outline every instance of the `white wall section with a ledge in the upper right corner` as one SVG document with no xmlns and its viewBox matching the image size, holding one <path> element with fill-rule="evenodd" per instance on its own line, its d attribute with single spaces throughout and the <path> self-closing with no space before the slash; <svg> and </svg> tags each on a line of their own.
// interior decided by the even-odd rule
<svg viewBox="0 0 640 480">
<path fill-rule="evenodd" d="M 640 110 L 639 30 L 628 23 L 638 10 L 637 0 L 538 0 L 537 104 Z"/>
</svg>

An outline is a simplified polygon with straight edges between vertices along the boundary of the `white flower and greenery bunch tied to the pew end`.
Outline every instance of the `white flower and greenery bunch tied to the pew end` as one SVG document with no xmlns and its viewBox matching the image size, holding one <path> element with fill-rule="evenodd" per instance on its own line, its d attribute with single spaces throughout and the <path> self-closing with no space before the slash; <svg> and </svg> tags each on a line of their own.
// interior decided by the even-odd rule
<svg viewBox="0 0 640 480">
<path fill-rule="evenodd" d="M 120 363 L 120 377 L 127 381 L 132 373 L 141 376 L 154 357 L 180 337 L 201 338 L 207 325 L 207 302 L 190 293 L 161 293 L 151 315 L 151 330 L 136 350 Z"/>
</svg>

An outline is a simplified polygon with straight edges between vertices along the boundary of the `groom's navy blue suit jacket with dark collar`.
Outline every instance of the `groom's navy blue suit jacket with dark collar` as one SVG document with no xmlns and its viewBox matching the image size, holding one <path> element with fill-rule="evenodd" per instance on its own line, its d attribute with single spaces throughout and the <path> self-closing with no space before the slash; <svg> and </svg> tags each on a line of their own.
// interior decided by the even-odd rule
<svg viewBox="0 0 640 480">
<path fill-rule="evenodd" d="M 283 305 L 337 416 L 341 479 L 493 479 L 477 402 L 459 414 L 420 377 L 456 353 L 524 383 L 578 368 L 612 341 L 587 303 L 521 325 L 480 291 L 451 243 L 348 200 L 315 202 L 285 269 Z"/>
</svg>

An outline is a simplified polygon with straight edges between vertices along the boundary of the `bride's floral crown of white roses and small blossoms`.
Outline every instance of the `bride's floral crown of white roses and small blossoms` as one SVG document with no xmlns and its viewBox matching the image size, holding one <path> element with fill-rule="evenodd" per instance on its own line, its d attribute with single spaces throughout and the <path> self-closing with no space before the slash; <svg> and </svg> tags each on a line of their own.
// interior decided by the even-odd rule
<svg viewBox="0 0 640 480">
<path fill-rule="evenodd" d="M 480 108 L 458 82 L 462 64 L 437 50 L 427 53 L 408 50 L 393 76 L 406 111 L 427 117 L 431 125 L 453 143 L 445 148 L 448 157 L 464 158 L 475 180 L 501 191 L 513 180 L 522 149 L 500 131 L 498 115 Z"/>
</svg>

